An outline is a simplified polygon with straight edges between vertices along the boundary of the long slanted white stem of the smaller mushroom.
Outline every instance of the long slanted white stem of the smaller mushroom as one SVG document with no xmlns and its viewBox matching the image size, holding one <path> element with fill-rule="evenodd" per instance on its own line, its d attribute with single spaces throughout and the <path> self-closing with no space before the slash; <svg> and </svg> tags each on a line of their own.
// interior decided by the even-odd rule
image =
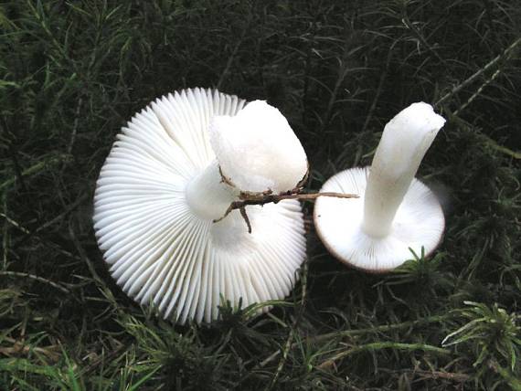
<svg viewBox="0 0 521 391">
<path fill-rule="evenodd" d="M 421 160 L 444 122 L 431 105 L 419 102 L 386 125 L 367 179 L 362 229 L 369 237 L 388 236 Z"/>
</svg>

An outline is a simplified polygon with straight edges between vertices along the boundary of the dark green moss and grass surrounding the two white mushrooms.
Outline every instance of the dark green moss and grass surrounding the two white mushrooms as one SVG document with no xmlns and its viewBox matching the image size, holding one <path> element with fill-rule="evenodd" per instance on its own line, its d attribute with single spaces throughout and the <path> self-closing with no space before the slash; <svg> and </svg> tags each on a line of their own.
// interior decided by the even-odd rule
<svg viewBox="0 0 521 391">
<path fill-rule="evenodd" d="M 509 0 L 0 2 L 0 389 L 521 389 L 520 14 Z M 285 305 L 212 327 L 149 316 L 102 261 L 94 183 L 135 111 L 196 86 L 277 106 L 312 190 L 369 164 L 409 103 L 435 105 L 448 122 L 419 176 L 445 206 L 441 247 L 367 275 L 310 222 Z"/>
</svg>

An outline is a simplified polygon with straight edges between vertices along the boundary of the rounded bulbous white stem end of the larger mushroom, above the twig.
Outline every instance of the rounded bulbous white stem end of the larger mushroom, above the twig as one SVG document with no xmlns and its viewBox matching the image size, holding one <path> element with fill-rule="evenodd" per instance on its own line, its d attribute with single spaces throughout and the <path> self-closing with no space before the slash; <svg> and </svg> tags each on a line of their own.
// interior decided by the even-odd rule
<svg viewBox="0 0 521 391">
<path fill-rule="evenodd" d="M 215 116 L 210 143 L 223 175 L 243 192 L 287 192 L 307 173 L 302 144 L 281 111 L 263 100 L 235 116 Z"/>
</svg>

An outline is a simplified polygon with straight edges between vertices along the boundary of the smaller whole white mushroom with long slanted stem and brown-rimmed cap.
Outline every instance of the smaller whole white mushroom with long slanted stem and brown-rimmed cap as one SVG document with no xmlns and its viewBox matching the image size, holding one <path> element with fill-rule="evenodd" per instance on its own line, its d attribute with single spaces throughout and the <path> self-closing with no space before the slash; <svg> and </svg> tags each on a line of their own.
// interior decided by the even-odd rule
<svg viewBox="0 0 521 391">
<path fill-rule="evenodd" d="M 444 122 L 431 105 L 411 104 L 386 125 L 371 167 L 325 182 L 321 193 L 360 196 L 316 200 L 314 225 L 337 259 L 382 272 L 410 259 L 409 248 L 429 254 L 438 246 L 445 224 L 440 203 L 414 175 Z"/>
</svg>

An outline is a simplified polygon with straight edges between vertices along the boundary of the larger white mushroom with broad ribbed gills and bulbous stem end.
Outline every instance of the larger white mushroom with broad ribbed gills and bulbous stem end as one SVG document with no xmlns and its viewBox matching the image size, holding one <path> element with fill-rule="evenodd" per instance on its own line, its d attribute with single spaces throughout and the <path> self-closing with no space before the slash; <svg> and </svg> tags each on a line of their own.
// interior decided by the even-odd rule
<svg viewBox="0 0 521 391">
<path fill-rule="evenodd" d="M 218 318 L 221 297 L 232 305 L 242 298 L 243 306 L 282 299 L 303 262 L 303 214 L 296 200 L 249 206 L 251 234 L 238 210 L 214 223 L 242 191 L 264 185 L 264 190 L 279 191 L 306 174 L 305 153 L 283 157 L 280 148 L 272 148 L 264 166 L 254 167 L 249 157 L 241 164 L 242 153 L 259 155 L 258 132 L 251 129 L 262 126 L 270 134 L 259 145 L 262 153 L 270 153 L 266 148 L 277 142 L 277 132 L 290 140 L 285 146 L 292 153 L 302 149 L 279 111 L 263 102 L 244 105 L 217 90 L 168 94 L 122 128 L 101 168 L 93 219 L 104 259 L 123 291 L 154 306 L 165 319 L 211 322 Z M 256 108 L 251 129 L 250 105 Z M 212 121 L 212 139 L 218 139 L 214 145 L 230 145 L 219 149 L 219 160 L 210 144 Z M 233 146 L 238 135 L 244 136 L 241 151 Z M 255 143 L 247 143 L 250 138 Z M 236 174 L 244 174 L 237 176 L 237 184 L 247 188 L 223 182 L 221 159 L 234 181 Z M 305 169 L 293 170 L 289 178 L 287 164 Z M 250 180 L 252 172 L 267 182 Z"/>
</svg>

